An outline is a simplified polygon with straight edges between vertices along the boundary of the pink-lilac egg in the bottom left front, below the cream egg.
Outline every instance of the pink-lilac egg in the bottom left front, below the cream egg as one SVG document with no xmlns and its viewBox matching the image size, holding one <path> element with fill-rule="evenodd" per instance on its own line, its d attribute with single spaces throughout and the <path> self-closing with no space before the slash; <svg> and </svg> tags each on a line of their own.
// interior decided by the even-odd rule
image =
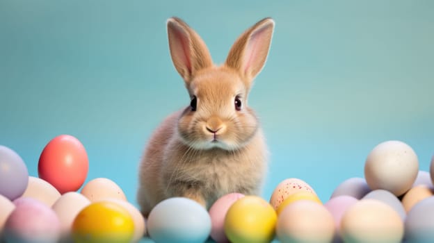
<svg viewBox="0 0 434 243">
<path fill-rule="evenodd" d="M 14 203 L 15 210 L 4 226 L 6 242 L 58 242 L 60 222 L 51 208 L 31 198 L 19 198 Z"/>
</svg>

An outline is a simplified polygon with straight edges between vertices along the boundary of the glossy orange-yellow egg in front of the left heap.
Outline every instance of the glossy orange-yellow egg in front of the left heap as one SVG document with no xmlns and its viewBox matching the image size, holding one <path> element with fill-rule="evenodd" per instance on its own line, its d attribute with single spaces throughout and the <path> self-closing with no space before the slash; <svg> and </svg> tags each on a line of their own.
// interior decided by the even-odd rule
<svg viewBox="0 0 434 243">
<path fill-rule="evenodd" d="M 83 208 L 72 224 L 74 242 L 131 242 L 134 221 L 128 210 L 116 203 L 97 202 Z"/>
</svg>

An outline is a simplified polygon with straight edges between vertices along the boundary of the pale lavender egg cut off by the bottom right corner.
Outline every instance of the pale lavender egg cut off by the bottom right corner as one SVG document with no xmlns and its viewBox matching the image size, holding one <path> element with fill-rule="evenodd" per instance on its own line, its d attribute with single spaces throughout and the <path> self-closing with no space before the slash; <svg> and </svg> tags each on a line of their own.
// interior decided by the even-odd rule
<svg viewBox="0 0 434 243">
<path fill-rule="evenodd" d="M 433 242 L 434 196 L 416 203 L 405 219 L 406 242 Z"/>
</svg>

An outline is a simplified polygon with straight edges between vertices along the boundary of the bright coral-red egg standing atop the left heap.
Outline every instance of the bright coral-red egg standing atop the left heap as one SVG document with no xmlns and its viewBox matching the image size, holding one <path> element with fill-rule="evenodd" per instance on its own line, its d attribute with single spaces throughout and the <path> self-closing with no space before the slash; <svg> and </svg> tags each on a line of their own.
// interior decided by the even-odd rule
<svg viewBox="0 0 434 243">
<path fill-rule="evenodd" d="M 54 137 L 42 150 L 38 162 L 39 177 L 61 194 L 79 190 L 86 180 L 88 168 L 86 149 L 71 135 Z"/>
</svg>

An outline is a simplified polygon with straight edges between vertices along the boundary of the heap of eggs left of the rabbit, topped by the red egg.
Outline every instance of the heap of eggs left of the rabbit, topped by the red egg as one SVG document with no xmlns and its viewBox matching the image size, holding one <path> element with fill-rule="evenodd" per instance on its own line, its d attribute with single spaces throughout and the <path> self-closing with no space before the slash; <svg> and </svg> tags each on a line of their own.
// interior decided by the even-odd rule
<svg viewBox="0 0 434 243">
<path fill-rule="evenodd" d="M 138 242 L 145 219 L 108 178 L 83 186 L 88 156 L 71 135 L 51 140 L 38 176 L 22 158 L 0 146 L 0 242 Z"/>
</svg>

